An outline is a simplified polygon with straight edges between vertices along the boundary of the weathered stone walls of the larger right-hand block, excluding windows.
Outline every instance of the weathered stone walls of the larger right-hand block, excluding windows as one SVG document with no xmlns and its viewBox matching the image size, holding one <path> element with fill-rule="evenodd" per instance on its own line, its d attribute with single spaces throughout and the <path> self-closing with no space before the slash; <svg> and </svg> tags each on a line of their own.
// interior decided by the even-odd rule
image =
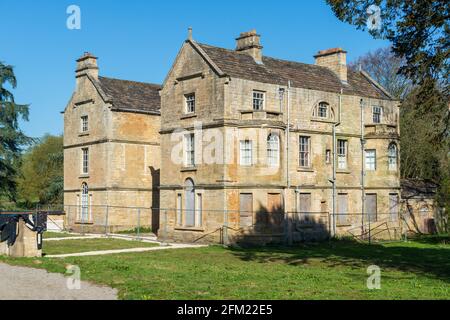
<svg viewBox="0 0 450 320">
<path fill-rule="evenodd" d="M 267 208 L 269 193 L 280 193 L 289 212 L 297 210 L 296 192 L 311 193 L 311 211 L 329 216 L 332 210 L 332 185 L 329 179 L 333 172 L 331 161 L 327 163 L 325 155 L 326 150 L 333 150 L 332 128 L 333 123 L 338 120 L 341 124 L 336 129 L 336 136 L 347 141 L 348 157 L 347 168 L 338 170 L 336 184 L 338 193 L 348 194 L 348 212 L 354 216 L 349 217 L 348 224 L 338 226 L 337 231 L 346 235 L 348 230 L 356 228 L 361 224 L 362 212 L 361 98 L 364 99 L 365 148 L 377 150 L 377 169 L 367 172 L 365 176 L 366 193 L 377 194 L 377 211 L 380 217 L 389 217 L 389 194 L 400 193 L 399 170 L 389 171 L 387 160 L 389 144 L 394 142 L 398 146 L 399 141 L 397 102 L 342 95 L 340 104 L 336 93 L 292 88 L 288 173 L 291 187 L 289 191 L 285 191 L 287 95 L 280 102 L 279 88 L 266 83 L 219 78 L 198 52 L 185 44 L 161 92 L 161 207 L 172 209 L 168 210 L 167 225 L 163 226 L 165 222 L 162 221 L 161 228 L 168 230 L 168 237 L 180 241 L 202 236 L 211 238 L 209 234 L 222 228 L 224 224 L 228 224 L 230 228 L 239 228 L 240 192 L 253 193 L 255 212 Z M 253 111 L 253 90 L 265 92 L 264 111 Z M 185 115 L 184 97 L 191 92 L 196 93 L 196 113 Z M 313 117 L 314 108 L 319 102 L 330 105 L 334 118 Z M 381 124 L 372 123 L 373 105 L 384 108 Z M 222 133 L 225 147 L 233 146 L 231 163 L 207 166 L 199 164 L 196 168 L 184 168 L 183 164 L 173 162 L 172 151 L 179 141 L 171 141 L 171 133 L 177 128 L 192 131 L 195 121 L 202 123 L 203 135 L 208 134 L 209 130 Z M 269 133 L 280 137 L 280 166 L 275 169 L 269 168 L 266 162 L 265 139 Z M 301 168 L 299 165 L 299 136 L 310 137 L 311 165 L 308 168 Z M 253 143 L 253 159 L 256 164 L 251 167 L 238 163 L 239 140 L 245 138 L 256 142 Z M 199 148 L 197 142 L 203 148 L 208 145 L 208 142 L 196 141 L 196 150 Z M 198 190 L 202 190 L 204 211 L 205 206 L 208 206 L 208 210 L 228 211 L 228 214 L 216 215 L 212 221 L 204 219 L 204 225 L 195 231 L 177 230 L 176 199 L 177 194 L 181 194 L 184 201 L 183 185 L 187 178 L 193 179 Z M 228 216 L 227 222 L 224 222 L 224 216 Z M 390 226 L 397 228 L 398 223 L 394 222 Z"/>
</svg>

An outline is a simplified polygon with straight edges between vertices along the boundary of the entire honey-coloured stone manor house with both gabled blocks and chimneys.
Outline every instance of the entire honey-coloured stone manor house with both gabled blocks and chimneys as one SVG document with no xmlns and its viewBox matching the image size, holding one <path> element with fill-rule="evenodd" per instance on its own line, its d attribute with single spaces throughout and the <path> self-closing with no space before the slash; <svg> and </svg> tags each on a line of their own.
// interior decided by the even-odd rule
<svg viewBox="0 0 450 320">
<path fill-rule="evenodd" d="M 109 231 L 143 208 L 173 241 L 398 235 L 399 101 L 340 48 L 315 61 L 266 57 L 255 31 L 235 50 L 190 32 L 159 85 L 100 76 L 85 53 L 64 111 L 67 226 L 102 228 L 107 205 Z"/>
</svg>

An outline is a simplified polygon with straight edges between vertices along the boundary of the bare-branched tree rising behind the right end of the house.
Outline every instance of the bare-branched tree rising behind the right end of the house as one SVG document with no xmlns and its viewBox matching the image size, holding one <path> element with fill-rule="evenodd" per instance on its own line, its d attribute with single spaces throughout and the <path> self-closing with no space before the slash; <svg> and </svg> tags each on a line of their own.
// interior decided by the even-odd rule
<svg viewBox="0 0 450 320">
<path fill-rule="evenodd" d="M 378 49 L 350 63 L 359 65 L 383 85 L 400 105 L 400 158 L 401 177 L 431 180 L 439 185 L 437 201 L 450 209 L 450 135 L 447 120 L 448 100 L 435 81 L 414 86 L 405 76 L 397 73 L 402 60 L 389 48 Z"/>
</svg>

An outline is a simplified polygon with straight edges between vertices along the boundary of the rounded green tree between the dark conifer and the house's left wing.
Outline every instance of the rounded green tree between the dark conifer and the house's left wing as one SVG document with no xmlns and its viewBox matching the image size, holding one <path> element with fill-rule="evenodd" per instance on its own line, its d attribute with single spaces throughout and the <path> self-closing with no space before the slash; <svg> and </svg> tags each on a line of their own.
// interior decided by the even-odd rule
<svg viewBox="0 0 450 320">
<path fill-rule="evenodd" d="M 18 200 L 24 207 L 63 200 L 63 138 L 47 135 L 23 156 Z"/>
</svg>

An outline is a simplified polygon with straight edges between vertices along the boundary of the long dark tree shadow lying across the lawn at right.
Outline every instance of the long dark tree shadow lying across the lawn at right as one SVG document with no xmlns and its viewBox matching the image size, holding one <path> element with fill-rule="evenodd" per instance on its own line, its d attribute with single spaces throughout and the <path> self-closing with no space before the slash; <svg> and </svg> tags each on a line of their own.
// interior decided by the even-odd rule
<svg viewBox="0 0 450 320">
<path fill-rule="evenodd" d="M 243 261 L 278 262 L 301 266 L 320 260 L 330 268 L 367 268 L 370 265 L 377 265 L 382 269 L 413 272 L 450 282 L 450 246 L 424 248 L 402 243 L 369 245 L 351 240 L 335 240 L 296 247 L 269 246 L 229 250 Z"/>
</svg>

